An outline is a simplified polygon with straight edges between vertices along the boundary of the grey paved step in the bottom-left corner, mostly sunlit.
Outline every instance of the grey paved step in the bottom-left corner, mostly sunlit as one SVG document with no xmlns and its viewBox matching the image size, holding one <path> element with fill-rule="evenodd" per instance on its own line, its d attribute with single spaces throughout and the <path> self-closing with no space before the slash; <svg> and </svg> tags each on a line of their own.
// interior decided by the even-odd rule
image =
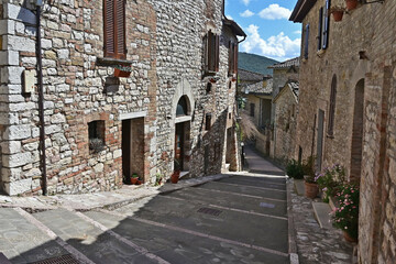
<svg viewBox="0 0 396 264">
<path fill-rule="evenodd" d="M 0 208 L 0 252 L 11 263 L 33 263 L 69 254 L 53 238 L 11 208 Z"/>
</svg>

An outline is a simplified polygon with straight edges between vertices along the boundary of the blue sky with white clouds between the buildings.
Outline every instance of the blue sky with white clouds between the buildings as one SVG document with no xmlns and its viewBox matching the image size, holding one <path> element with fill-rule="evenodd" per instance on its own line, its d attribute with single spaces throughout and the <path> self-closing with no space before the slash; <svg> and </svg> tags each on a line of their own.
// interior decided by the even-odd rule
<svg viewBox="0 0 396 264">
<path fill-rule="evenodd" d="M 301 24 L 288 21 L 297 0 L 226 0 L 226 15 L 248 34 L 240 52 L 283 62 L 300 53 Z"/>
</svg>

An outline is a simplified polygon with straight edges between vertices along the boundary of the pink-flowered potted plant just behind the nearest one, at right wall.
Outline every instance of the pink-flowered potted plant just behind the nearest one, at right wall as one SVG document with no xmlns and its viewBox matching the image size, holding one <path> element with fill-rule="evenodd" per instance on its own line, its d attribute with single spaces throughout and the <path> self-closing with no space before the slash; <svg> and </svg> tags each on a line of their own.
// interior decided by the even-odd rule
<svg viewBox="0 0 396 264">
<path fill-rule="evenodd" d="M 340 185 L 345 180 L 345 168 L 339 164 L 327 167 L 315 177 L 315 182 L 323 191 L 323 201 L 329 202 L 329 197 L 334 196 Z"/>
</svg>

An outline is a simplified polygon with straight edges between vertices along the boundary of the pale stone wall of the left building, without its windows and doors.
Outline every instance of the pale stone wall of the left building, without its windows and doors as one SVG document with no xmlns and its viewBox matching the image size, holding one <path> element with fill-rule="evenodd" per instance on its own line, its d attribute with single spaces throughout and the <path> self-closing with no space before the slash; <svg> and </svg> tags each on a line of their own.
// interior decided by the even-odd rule
<svg viewBox="0 0 396 264">
<path fill-rule="evenodd" d="M 23 92 L 22 74 L 35 72 L 35 14 L 28 1 L 3 1 L 0 35 L 1 187 L 10 195 L 41 194 L 38 97 Z M 210 146 L 208 174 L 224 166 L 227 118 L 234 121 L 235 81 L 228 76 L 228 41 L 221 0 L 127 1 L 127 61 L 132 73 L 114 78 L 103 66 L 102 1 L 55 0 L 43 7 L 42 50 L 45 145 L 48 193 L 109 190 L 122 184 L 122 120 L 143 118 L 145 183 L 173 170 L 175 98 L 189 95 L 190 175 L 204 175 L 205 145 Z M 202 77 L 202 37 L 221 35 L 220 70 L 207 92 Z M 231 82 L 231 85 L 230 85 Z M 178 98 L 176 99 L 177 102 Z M 205 114 L 212 129 L 205 131 Z M 105 123 L 105 148 L 89 150 L 88 123 Z M 142 133 L 144 133 L 142 135 Z M 217 144 L 218 148 L 212 146 Z M 219 150 L 219 151 L 218 151 Z M 141 167 L 141 166 L 140 166 Z"/>
</svg>

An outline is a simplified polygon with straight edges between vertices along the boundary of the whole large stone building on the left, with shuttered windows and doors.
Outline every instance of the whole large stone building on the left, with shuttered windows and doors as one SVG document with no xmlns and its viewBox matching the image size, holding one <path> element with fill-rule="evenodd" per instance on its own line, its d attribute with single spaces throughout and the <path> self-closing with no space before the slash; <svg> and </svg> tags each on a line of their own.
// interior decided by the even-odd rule
<svg viewBox="0 0 396 264">
<path fill-rule="evenodd" d="M 148 184 L 174 160 L 190 177 L 239 169 L 245 34 L 222 0 L 32 2 L 0 6 L 0 191 Z"/>
</svg>

